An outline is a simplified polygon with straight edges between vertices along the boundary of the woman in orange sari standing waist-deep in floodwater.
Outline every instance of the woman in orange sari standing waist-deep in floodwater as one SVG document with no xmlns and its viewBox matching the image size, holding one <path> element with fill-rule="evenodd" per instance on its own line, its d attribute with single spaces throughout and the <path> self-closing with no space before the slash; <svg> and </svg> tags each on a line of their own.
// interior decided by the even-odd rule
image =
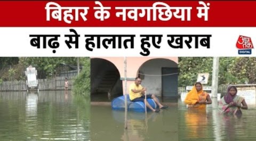
<svg viewBox="0 0 256 141">
<path fill-rule="evenodd" d="M 185 104 L 188 104 L 189 109 L 206 109 L 206 104 L 212 104 L 212 99 L 209 94 L 203 91 L 201 82 L 196 82 L 185 98 Z"/>
</svg>

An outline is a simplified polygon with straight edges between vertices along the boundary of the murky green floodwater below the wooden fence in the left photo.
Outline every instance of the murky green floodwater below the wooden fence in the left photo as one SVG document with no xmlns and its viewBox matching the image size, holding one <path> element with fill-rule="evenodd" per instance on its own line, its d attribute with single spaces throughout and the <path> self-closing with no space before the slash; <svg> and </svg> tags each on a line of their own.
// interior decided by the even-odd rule
<svg viewBox="0 0 256 141">
<path fill-rule="evenodd" d="M 0 92 L 0 140 L 91 140 L 90 99 L 70 93 Z"/>
</svg>

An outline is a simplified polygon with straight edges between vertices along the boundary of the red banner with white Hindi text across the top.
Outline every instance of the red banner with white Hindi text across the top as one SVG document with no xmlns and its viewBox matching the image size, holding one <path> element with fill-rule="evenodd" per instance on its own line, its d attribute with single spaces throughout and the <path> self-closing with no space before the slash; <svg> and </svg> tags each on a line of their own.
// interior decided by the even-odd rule
<svg viewBox="0 0 256 141">
<path fill-rule="evenodd" d="M 256 1 L 96 2 L 0 1 L 0 27 L 256 27 Z"/>
</svg>

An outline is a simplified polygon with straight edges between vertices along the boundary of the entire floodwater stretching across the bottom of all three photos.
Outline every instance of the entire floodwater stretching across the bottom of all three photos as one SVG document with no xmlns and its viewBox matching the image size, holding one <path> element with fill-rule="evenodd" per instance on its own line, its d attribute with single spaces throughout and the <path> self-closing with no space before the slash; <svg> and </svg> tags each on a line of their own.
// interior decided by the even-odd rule
<svg viewBox="0 0 256 141">
<path fill-rule="evenodd" d="M 124 111 L 70 93 L 1 92 L 0 140 L 256 140 L 256 105 L 227 117 L 212 105 L 188 111 L 179 101 L 159 113 L 128 112 L 124 129 Z"/>
</svg>

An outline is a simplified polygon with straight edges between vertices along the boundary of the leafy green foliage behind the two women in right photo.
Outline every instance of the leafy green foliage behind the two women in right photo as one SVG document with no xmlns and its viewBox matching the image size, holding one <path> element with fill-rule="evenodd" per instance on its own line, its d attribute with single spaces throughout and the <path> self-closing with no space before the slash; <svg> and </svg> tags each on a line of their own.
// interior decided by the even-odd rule
<svg viewBox="0 0 256 141">
<path fill-rule="evenodd" d="M 212 57 L 179 57 L 179 86 L 191 86 L 198 73 L 210 73 L 212 82 Z M 256 82 L 256 57 L 220 57 L 218 84 L 244 84 Z"/>
</svg>

